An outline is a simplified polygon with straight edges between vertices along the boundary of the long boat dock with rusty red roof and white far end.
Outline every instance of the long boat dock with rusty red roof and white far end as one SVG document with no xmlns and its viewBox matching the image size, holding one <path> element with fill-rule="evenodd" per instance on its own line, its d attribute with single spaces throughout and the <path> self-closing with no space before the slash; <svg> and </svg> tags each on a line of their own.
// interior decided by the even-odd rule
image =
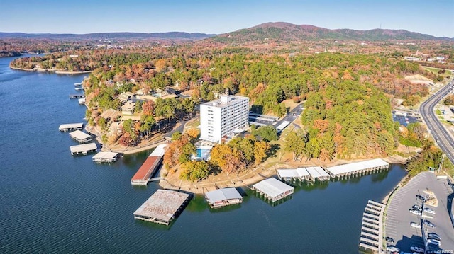
<svg viewBox="0 0 454 254">
<path fill-rule="evenodd" d="M 157 168 L 161 166 L 162 157 L 165 152 L 165 144 L 160 144 L 148 156 L 145 162 L 140 166 L 138 171 L 131 178 L 131 185 L 147 185 L 150 177 L 156 172 Z"/>
</svg>

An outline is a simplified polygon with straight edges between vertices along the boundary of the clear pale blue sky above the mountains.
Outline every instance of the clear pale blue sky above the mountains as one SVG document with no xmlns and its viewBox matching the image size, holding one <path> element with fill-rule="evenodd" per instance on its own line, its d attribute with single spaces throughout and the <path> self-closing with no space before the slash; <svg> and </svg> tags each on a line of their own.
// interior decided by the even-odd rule
<svg viewBox="0 0 454 254">
<path fill-rule="evenodd" d="M 228 33 L 277 21 L 454 37 L 454 0 L 0 1 L 0 32 Z"/>
</svg>

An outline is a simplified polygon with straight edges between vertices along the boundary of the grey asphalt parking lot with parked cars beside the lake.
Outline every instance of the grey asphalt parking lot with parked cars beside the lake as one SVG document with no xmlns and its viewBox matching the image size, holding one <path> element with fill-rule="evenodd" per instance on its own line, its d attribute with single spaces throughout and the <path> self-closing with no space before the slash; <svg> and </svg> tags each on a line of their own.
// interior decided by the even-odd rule
<svg viewBox="0 0 454 254">
<path fill-rule="evenodd" d="M 429 244 L 429 247 L 431 250 L 454 250 L 454 227 L 448 214 L 451 209 L 448 207 L 448 197 L 450 195 L 452 197 L 453 188 L 446 179 L 436 178 L 436 175 L 431 172 L 416 175 L 392 197 L 384 219 L 385 236 L 394 239 L 394 243 L 388 244 L 406 252 L 411 252 L 411 246 L 424 247 L 421 228 L 410 226 L 411 222 L 421 225 L 423 217 L 409 212 L 414 204 L 422 207 L 422 201 L 416 195 L 425 195 L 424 190 L 431 190 L 438 199 L 437 207 L 426 205 L 436 214 L 423 213 L 426 220 L 436 226 L 436 228 L 424 226 L 426 233 L 437 233 L 441 238 L 440 246 Z"/>
</svg>

